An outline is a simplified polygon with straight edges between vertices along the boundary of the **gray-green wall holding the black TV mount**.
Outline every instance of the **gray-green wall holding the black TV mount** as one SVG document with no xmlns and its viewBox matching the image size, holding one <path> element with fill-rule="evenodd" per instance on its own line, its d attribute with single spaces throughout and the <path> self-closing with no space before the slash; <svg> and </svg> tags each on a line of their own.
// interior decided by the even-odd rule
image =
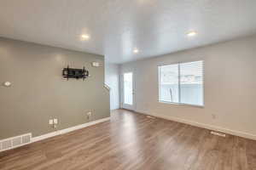
<svg viewBox="0 0 256 170">
<path fill-rule="evenodd" d="M 92 67 L 92 61 L 102 66 Z M 85 66 L 91 77 L 67 81 L 61 77 L 67 65 Z M 5 81 L 12 86 L 3 87 Z M 0 83 L 0 139 L 52 132 L 48 122 L 53 117 L 63 129 L 110 115 L 103 56 L 0 38 Z"/>
</svg>

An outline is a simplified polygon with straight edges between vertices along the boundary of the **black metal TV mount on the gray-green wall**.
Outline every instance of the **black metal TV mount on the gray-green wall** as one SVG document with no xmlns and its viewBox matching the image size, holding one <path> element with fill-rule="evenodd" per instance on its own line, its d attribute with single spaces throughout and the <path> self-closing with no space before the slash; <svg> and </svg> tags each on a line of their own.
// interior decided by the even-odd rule
<svg viewBox="0 0 256 170">
<path fill-rule="evenodd" d="M 73 69 L 73 68 L 69 68 L 69 66 L 67 65 L 67 68 L 64 68 L 62 70 L 62 77 L 67 78 L 67 80 L 69 78 L 87 78 L 89 77 L 89 71 L 85 70 L 85 68 L 83 69 Z"/>
</svg>

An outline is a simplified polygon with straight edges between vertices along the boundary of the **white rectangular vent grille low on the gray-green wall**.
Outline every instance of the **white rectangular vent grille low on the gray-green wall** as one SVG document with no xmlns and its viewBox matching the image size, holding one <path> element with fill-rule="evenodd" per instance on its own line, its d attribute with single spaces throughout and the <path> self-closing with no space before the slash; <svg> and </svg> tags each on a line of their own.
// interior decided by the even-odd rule
<svg viewBox="0 0 256 170">
<path fill-rule="evenodd" d="M 0 151 L 11 150 L 32 142 L 32 133 L 22 134 L 9 139 L 0 140 Z"/>
</svg>

